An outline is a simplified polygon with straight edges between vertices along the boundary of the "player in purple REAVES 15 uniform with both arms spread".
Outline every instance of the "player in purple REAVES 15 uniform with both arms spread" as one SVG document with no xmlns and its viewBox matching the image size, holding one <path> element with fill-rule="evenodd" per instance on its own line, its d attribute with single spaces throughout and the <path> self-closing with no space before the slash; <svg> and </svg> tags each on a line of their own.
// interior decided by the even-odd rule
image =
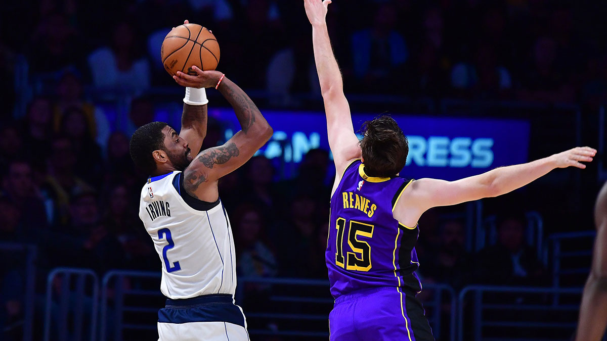
<svg viewBox="0 0 607 341">
<path fill-rule="evenodd" d="M 325 254 L 335 297 L 330 339 L 434 340 L 416 299 L 421 283 L 415 243 L 422 213 L 506 194 L 558 167 L 585 168 L 580 161 L 592 161 L 596 150 L 578 147 L 458 181 L 397 177 L 409 147 L 396 121 L 382 116 L 368 122 L 362 141 L 354 134 L 325 22 L 330 3 L 305 0 L 337 172 Z"/>
</svg>

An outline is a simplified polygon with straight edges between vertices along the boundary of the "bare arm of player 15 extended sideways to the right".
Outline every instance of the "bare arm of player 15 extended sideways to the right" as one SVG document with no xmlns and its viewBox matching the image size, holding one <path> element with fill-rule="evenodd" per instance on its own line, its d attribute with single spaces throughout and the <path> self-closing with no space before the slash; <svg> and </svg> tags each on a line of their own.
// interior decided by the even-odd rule
<svg viewBox="0 0 607 341">
<path fill-rule="evenodd" d="M 586 168 L 596 154 L 590 147 L 577 147 L 550 157 L 489 172 L 457 181 L 424 178 L 413 181 L 396 203 L 394 217 L 406 226 L 415 226 L 422 213 L 436 206 L 450 206 L 466 201 L 497 197 L 525 186 L 556 168 Z M 410 224 L 410 225 L 407 225 Z"/>
</svg>

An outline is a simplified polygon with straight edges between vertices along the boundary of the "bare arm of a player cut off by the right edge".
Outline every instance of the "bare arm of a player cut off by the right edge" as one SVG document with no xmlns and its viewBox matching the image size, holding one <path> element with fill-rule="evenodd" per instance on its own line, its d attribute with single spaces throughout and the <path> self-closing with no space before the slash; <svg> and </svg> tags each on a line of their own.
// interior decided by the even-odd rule
<svg viewBox="0 0 607 341">
<path fill-rule="evenodd" d="M 599 341 L 607 326 L 607 183 L 597 197 L 594 222 L 597 225 L 597 238 L 594 240 L 592 267 L 580 306 L 577 341 Z"/>
</svg>

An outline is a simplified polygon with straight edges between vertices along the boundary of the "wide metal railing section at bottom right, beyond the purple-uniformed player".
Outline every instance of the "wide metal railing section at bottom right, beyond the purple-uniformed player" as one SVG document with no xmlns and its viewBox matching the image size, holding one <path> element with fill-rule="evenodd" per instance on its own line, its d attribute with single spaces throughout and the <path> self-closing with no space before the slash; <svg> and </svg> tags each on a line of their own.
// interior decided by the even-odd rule
<svg viewBox="0 0 607 341">
<path fill-rule="evenodd" d="M 571 340 L 581 294 L 582 288 L 467 286 L 458 297 L 458 341 Z"/>
</svg>

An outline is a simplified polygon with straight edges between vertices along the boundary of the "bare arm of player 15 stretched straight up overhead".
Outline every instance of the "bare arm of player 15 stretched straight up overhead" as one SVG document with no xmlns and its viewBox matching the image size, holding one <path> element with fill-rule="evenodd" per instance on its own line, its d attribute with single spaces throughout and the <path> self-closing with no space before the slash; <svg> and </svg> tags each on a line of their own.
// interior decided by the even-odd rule
<svg viewBox="0 0 607 341">
<path fill-rule="evenodd" d="M 352 126 L 350 105 L 344 95 L 341 71 L 333 55 L 325 21 L 330 3 L 331 0 L 305 0 L 305 11 L 312 24 L 314 60 L 325 101 L 329 146 L 333 152 L 337 177 L 340 177 L 351 160 L 361 157 L 361 148 Z"/>
</svg>

